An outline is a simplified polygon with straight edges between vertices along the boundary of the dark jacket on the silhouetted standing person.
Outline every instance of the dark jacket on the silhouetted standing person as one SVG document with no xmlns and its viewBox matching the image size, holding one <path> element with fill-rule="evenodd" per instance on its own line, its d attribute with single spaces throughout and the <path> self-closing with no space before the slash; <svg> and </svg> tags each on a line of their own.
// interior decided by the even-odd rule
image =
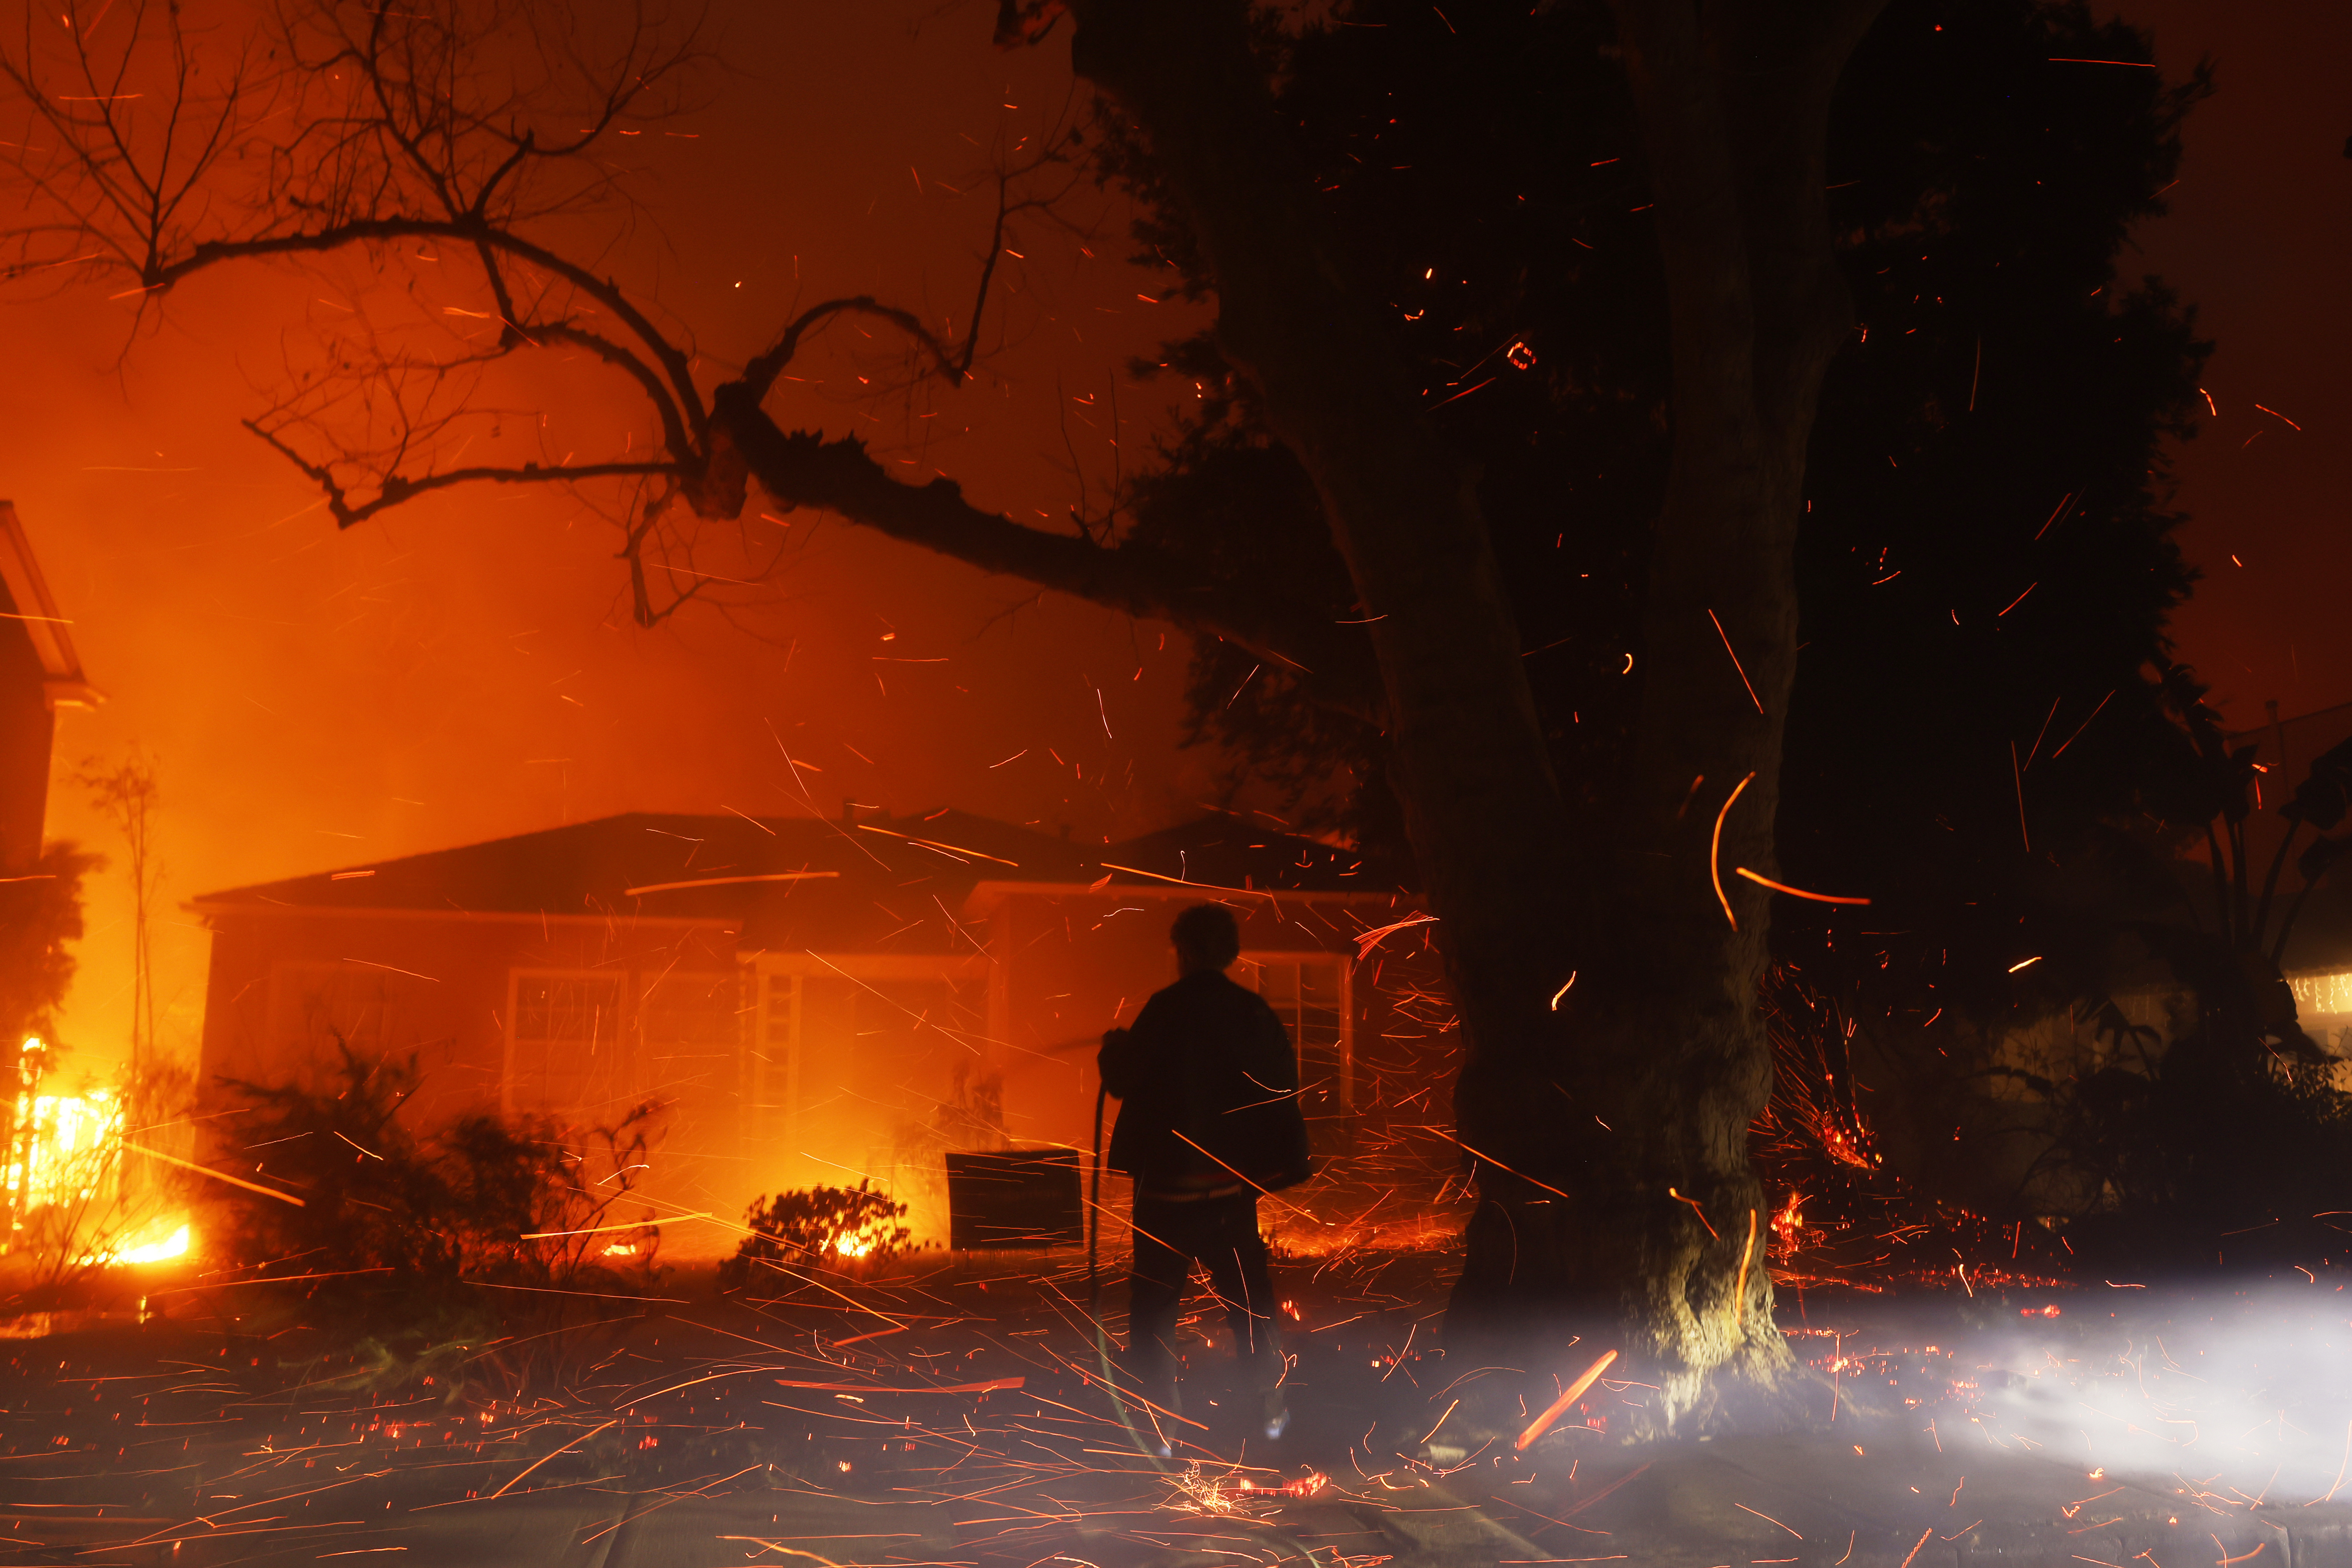
<svg viewBox="0 0 2352 1568">
<path fill-rule="evenodd" d="M 1134 1030 L 1103 1037 L 1098 1065 L 1120 1100 L 1108 1164 L 1138 1192 L 1230 1187 L 1235 1173 L 1275 1192 L 1312 1173 L 1298 1053 L 1247 985 L 1185 976 L 1143 1004 Z"/>
</svg>

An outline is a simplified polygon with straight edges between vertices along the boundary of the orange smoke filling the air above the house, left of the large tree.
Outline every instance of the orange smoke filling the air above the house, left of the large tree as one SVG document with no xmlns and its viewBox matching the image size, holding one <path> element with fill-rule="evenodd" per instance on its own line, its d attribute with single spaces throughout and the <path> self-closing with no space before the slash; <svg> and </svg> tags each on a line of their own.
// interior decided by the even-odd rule
<svg viewBox="0 0 2352 1568">
<path fill-rule="evenodd" d="M 635 143 L 642 223 L 597 261 L 677 324 L 706 386 L 826 296 L 964 327 L 988 148 L 1073 101 L 1068 49 L 1000 54 L 988 21 L 927 0 L 734 9 L 729 73 L 677 136 Z M 896 360 L 840 329 L 771 397 L 776 418 L 856 433 L 908 477 L 946 470 L 1018 522 L 1063 527 L 1082 494 L 1101 515 L 1164 421 L 1127 362 L 1197 313 L 1138 299 L 1155 277 L 1122 261 L 1124 209 L 1084 181 L 1075 200 L 1091 237 L 1049 219 L 1007 235 L 1021 256 L 1000 263 L 967 388 L 870 395 L 858 378 Z M 176 905 L 223 886 L 635 809 L 830 816 L 854 797 L 1124 837 L 1207 797 L 1207 759 L 1176 759 L 1183 637 L 847 524 L 760 520 L 755 501 L 746 555 L 790 541 L 776 581 L 654 632 L 628 621 L 612 524 L 564 494 L 447 491 L 336 534 L 238 428 L 282 393 L 329 292 L 285 268 L 205 275 L 158 331 L 101 292 L 0 299 L 26 369 L 0 383 L 0 494 L 108 693 L 64 715 L 59 778 L 136 743 L 162 780 L 165 1048 L 193 1048 L 205 1004 L 207 938 Z M 501 390 L 548 409 L 548 442 L 644 451 L 628 386 L 579 364 L 541 381 Z M 52 788 L 49 835 L 120 867 L 82 790 Z M 129 1034 L 120 882 L 92 879 L 61 1027 L 96 1070 Z"/>
</svg>

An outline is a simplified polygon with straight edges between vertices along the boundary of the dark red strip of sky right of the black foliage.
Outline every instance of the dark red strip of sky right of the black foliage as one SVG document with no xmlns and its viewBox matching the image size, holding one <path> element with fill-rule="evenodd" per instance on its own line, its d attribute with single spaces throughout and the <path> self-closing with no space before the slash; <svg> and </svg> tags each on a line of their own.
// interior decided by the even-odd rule
<svg viewBox="0 0 2352 1568">
<path fill-rule="evenodd" d="M 2216 341 L 2218 418 L 2178 456 L 2180 543 L 2204 583 L 2173 630 L 2251 726 L 2270 698 L 2288 717 L 2352 698 L 2352 7 L 2119 9 L 2154 33 L 2169 78 L 2211 59 L 2218 85 L 2190 115 L 2171 216 L 2138 235 L 2143 266 L 2124 275 L 2161 275 Z"/>
</svg>

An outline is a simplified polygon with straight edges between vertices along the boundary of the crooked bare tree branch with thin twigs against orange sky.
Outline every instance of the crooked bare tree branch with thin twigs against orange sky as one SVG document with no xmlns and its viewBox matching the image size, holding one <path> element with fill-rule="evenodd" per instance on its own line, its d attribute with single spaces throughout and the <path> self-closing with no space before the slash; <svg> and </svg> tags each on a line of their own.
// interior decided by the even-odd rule
<svg viewBox="0 0 2352 1568">
<path fill-rule="evenodd" d="M 1322 701 L 1378 710 L 1364 635 L 1301 623 L 1265 585 L 1207 581 L 1157 552 L 1112 545 L 1108 522 L 1082 520 L 1082 536 L 1014 524 L 969 505 L 953 482 L 901 484 L 861 442 L 788 435 L 762 411 L 786 367 L 844 317 L 894 329 L 917 376 L 962 386 L 1009 223 L 1025 214 L 1068 223 L 1056 202 L 1082 179 L 1068 129 L 997 172 L 988 254 L 960 334 L 870 294 L 826 299 L 793 315 L 706 402 L 691 339 L 534 230 L 541 219 L 626 200 L 600 153 L 623 120 L 675 108 L 701 59 L 696 19 L 670 26 L 644 0 L 602 33 L 604 52 L 590 59 L 595 45 L 579 42 L 569 14 L 541 12 L 548 0 L 282 0 L 266 40 L 219 54 L 176 9 L 122 2 L 127 31 L 106 42 L 66 9 L 49 24 L 28 16 L 21 47 L 0 49 L 0 87 L 14 87 L 45 141 L 14 155 L 38 214 L 0 226 L 12 247 L 0 275 L 129 273 L 127 296 L 146 320 L 181 282 L 233 263 L 374 254 L 463 256 L 480 268 L 463 284 L 480 289 L 473 303 L 416 301 L 430 331 L 456 339 L 454 350 L 419 355 L 414 327 L 376 327 L 369 299 L 383 294 L 360 289 L 353 306 L 334 306 L 348 317 L 322 320 L 318 348 L 289 360 L 275 407 L 245 421 L 320 487 L 339 527 L 466 484 L 623 482 L 626 505 L 604 515 L 621 531 L 633 614 L 654 625 L 713 602 L 713 583 L 750 581 L 694 564 L 694 529 L 741 520 L 757 477 L 786 508 L 823 508 L 983 571 L 1230 639 L 1294 670 Z M 52 26 L 56 38 L 42 42 L 40 28 Z M 59 92 L 68 80 L 73 89 Z M 141 96 L 148 89 L 162 94 L 160 108 Z M 1068 179 L 1051 179 L 1056 169 Z M 489 327 L 494 341 L 485 341 Z M 475 440 L 501 435 L 501 411 L 480 402 L 489 367 L 553 350 L 581 350 L 623 374 L 652 407 L 659 449 L 583 463 L 574 454 L 463 463 Z M 762 562 L 767 545 L 748 536 L 743 550 L 760 578 L 781 562 Z"/>
</svg>

